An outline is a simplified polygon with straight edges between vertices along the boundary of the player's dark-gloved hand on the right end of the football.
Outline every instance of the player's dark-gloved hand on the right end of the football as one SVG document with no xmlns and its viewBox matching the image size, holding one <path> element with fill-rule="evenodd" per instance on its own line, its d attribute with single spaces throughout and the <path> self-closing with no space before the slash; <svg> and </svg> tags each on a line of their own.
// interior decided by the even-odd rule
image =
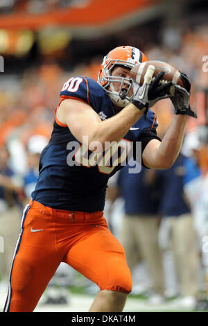
<svg viewBox="0 0 208 326">
<path fill-rule="evenodd" d="M 191 83 L 189 78 L 184 72 L 180 71 L 180 78 L 184 83 L 184 87 L 180 85 L 174 85 L 175 92 L 173 96 L 170 96 L 173 103 L 175 114 L 189 115 L 190 117 L 197 118 L 197 115 L 190 107 L 190 89 Z"/>
</svg>

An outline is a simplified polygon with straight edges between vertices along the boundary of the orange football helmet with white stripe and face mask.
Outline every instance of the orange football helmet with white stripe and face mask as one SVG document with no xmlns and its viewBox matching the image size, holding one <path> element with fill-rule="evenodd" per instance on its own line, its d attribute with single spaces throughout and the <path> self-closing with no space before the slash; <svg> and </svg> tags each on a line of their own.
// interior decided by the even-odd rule
<svg viewBox="0 0 208 326">
<path fill-rule="evenodd" d="M 132 83 L 128 78 L 112 77 L 112 69 L 114 69 L 116 65 L 131 69 L 139 62 L 144 61 L 147 61 L 146 55 L 134 46 L 118 46 L 105 55 L 103 63 L 101 64 L 101 70 L 98 73 L 98 84 L 103 87 L 104 91 L 110 96 L 111 101 L 117 106 L 123 108 L 132 100 L 133 95 L 130 97 L 128 96 Z M 112 82 L 121 83 L 119 92 L 114 90 Z M 123 83 L 129 85 L 125 93 L 122 91 Z"/>
</svg>

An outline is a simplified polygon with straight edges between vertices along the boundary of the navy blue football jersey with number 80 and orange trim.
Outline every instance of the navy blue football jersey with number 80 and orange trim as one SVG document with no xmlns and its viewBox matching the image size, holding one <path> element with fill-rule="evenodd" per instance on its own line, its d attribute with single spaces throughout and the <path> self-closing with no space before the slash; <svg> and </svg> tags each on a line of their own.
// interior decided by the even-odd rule
<svg viewBox="0 0 208 326">
<path fill-rule="evenodd" d="M 101 120 L 115 114 L 109 96 L 91 78 L 70 78 L 60 92 L 60 101 L 65 98 L 76 98 L 89 104 Z M 136 155 L 132 144 L 141 141 L 143 151 L 150 139 L 158 139 L 155 113 L 149 110 L 146 119 L 141 117 L 121 139 L 119 146 L 113 151 L 103 148 L 99 155 L 86 150 L 68 126 L 59 121 L 57 113 L 58 108 L 51 139 L 40 157 L 40 174 L 32 198 L 56 209 L 102 211 L 108 179 L 125 165 L 125 160 Z"/>
</svg>

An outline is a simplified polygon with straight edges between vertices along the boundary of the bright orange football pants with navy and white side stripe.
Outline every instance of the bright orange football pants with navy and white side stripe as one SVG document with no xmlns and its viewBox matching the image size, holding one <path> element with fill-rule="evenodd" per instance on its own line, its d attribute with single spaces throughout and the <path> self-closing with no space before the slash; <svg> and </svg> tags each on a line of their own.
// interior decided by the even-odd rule
<svg viewBox="0 0 208 326">
<path fill-rule="evenodd" d="M 64 261 L 101 290 L 129 293 L 130 270 L 103 212 L 69 212 L 36 201 L 24 209 L 4 311 L 33 311 Z"/>
</svg>

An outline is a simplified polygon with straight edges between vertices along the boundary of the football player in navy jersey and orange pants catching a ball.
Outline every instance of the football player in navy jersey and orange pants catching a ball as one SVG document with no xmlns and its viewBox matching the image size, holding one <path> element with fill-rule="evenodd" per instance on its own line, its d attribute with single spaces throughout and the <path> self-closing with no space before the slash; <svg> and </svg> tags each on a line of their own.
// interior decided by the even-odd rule
<svg viewBox="0 0 208 326">
<path fill-rule="evenodd" d="M 4 311 L 33 311 L 61 261 L 101 289 L 89 311 L 123 310 L 132 279 L 103 217 L 107 180 L 138 157 L 132 148 L 139 142 L 141 164 L 171 166 L 190 113 L 184 76 L 188 86 L 172 98 L 177 114 L 162 141 L 157 137 L 150 107 L 170 96 L 171 83 L 159 84 L 162 72 L 150 82 L 149 70 L 141 87 L 134 83 L 130 69 L 145 60 L 139 49 L 119 46 L 105 56 L 98 83 L 84 76 L 64 83 L 37 186 L 24 209 Z"/>
</svg>

